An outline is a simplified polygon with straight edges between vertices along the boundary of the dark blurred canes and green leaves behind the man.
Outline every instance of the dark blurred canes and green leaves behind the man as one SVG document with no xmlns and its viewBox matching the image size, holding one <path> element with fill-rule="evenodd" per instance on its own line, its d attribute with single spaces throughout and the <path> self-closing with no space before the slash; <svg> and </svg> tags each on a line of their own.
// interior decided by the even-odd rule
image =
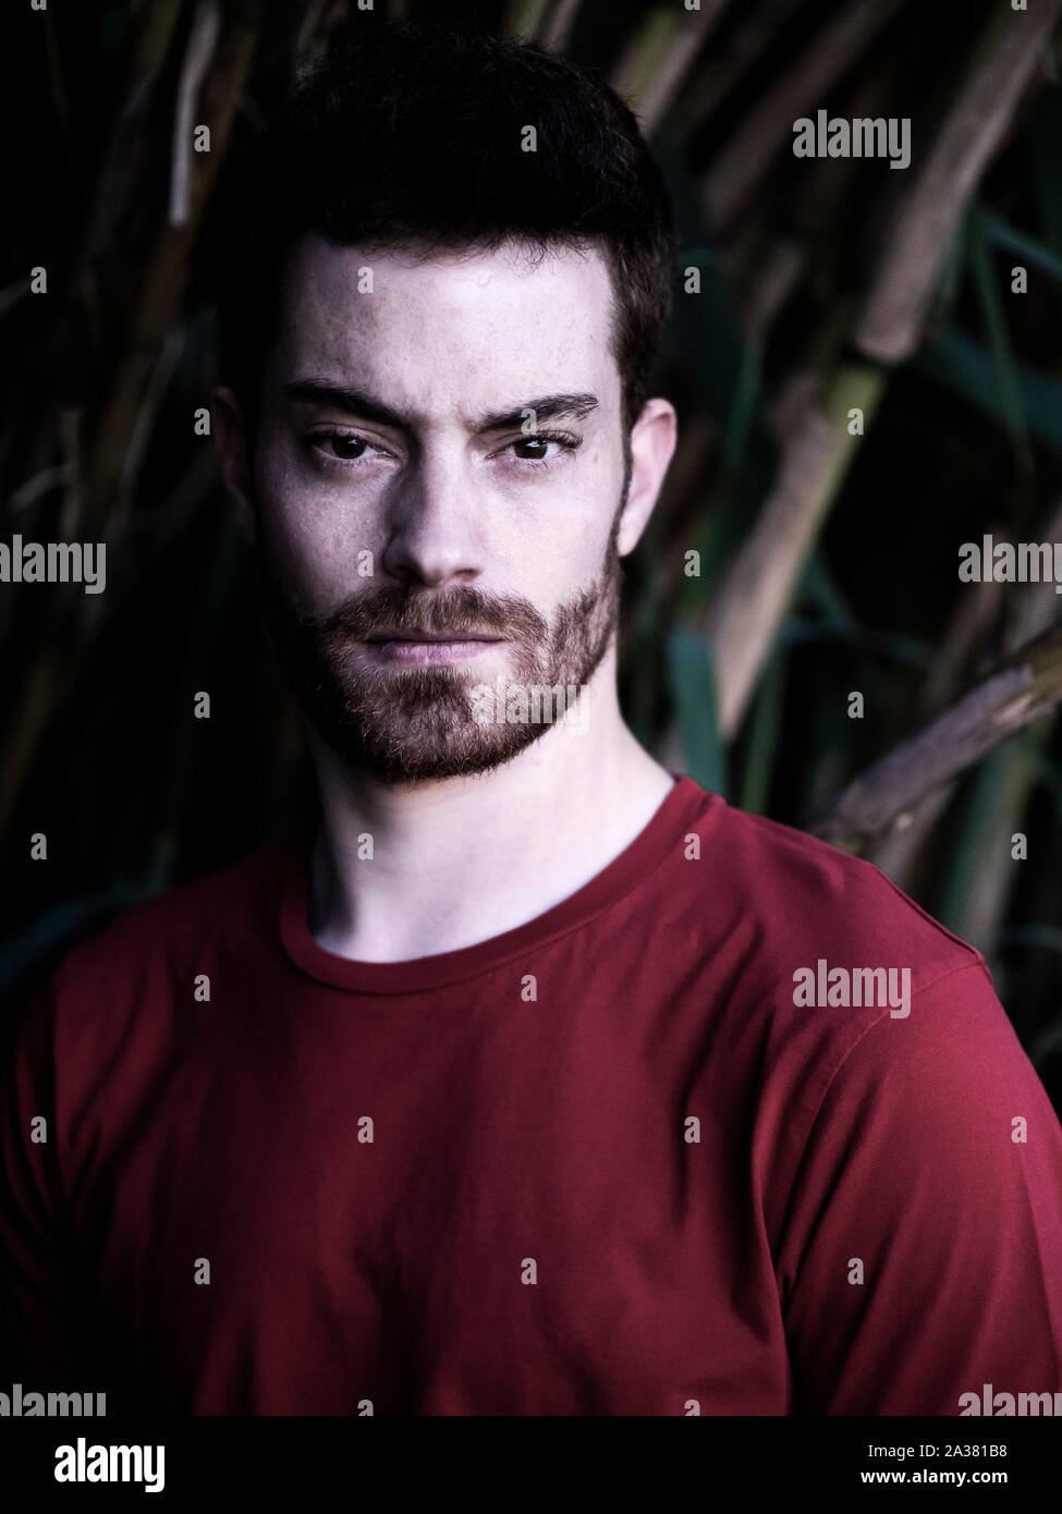
<svg viewBox="0 0 1062 1514">
<path fill-rule="evenodd" d="M 1030 0 L 1030 15 L 1038 6 L 1054 0 Z M 5 986 L 39 978 L 129 899 L 258 845 L 309 792 L 248 551 L 192 416 L 217 378 L 217 206 L 295 70 L 361 27 L 430 15 L 559 45 L 639 111 L 668 177 L 683 251 L 656 388 L 679 407 L 680 445 L 626 565 L 621 663 L 624 709 L 662 760 L 733 804 L 806 824 L 1057 622 L 1050 587 L 957 578 L 965 540 L 1059 533 L 1054 24 L 959 223 L 914 227 L 939 254 L 915 350 L 880 362 L 859 345 L 882 248 L 915 215 L 921 164 L 1007 26 L 1032 24 L 1004 12 L 991 0 L 8 8 L 3 539 L 106 540 L 108 592 L 0 595 Z M 188 98 L 211 124 L 209 160 L 182 139 Z M 797 159 L 792 121 L 820 107 L 909 117 L 911 168 Z M 47 298 L 29 294 L 36 265 Z M 1026 294 L 1012 292 L 1015 265 Z M 697 294 L 683 288 L 689 268 Z M 735 565 L 757 550 L 757 527 L 771 547 L 767 507 L 786 465 L 800 481 L 815 404 L 844 415 L 856 392 L 865 435 L 821 460 L 777 607 L 751 610 L 761 650 L 727 713 L 732 669 L 714 648 L 742 609 Z M 209 722 L 191 718 L 200 689 Z M 848 716 L 853 690 L 862 721 Z M 29 860 L 33 831 L 48 836 L 47 868 Z M 1026 861 L 1010 858 L 1017 831 Z M 1056 1105 L 1060 842 L 1062 737 L 1047 718 L 861 846 L 986 952 Z"/>
</svg>

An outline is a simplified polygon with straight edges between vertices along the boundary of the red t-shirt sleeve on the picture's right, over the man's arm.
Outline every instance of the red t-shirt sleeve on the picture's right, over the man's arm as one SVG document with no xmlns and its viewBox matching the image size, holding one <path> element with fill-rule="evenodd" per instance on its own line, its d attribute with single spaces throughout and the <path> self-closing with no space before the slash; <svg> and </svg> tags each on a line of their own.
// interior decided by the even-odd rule
<svg viewBox="0 0 1062 1514">
<path fill-rule="evenodd" d="M 845 1055 L 776 1251 L 798 1411 L 1062 1390 L 1062 1128 L 983 966 Z"/>
</svg>

